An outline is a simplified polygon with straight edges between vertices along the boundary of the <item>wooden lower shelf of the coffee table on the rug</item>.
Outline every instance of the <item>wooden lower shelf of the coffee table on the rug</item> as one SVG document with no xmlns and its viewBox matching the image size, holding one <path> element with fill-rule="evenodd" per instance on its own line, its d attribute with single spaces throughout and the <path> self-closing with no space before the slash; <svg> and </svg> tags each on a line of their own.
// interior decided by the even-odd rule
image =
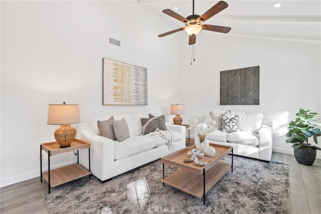
<svg viewBox="0 0 321 214">
<path fill-rule="evenodd" d="M 230 168 L 231 164 L 219 162 L 214 167 L 206 171 L 205 193 L 208 192 Z M 198 175 L 188 172 L 187 170 L 179 169 L 166 178 L 161 179 L 161 181 L 197 198 L 203 198 L 203 175 Z"/>
</svg>

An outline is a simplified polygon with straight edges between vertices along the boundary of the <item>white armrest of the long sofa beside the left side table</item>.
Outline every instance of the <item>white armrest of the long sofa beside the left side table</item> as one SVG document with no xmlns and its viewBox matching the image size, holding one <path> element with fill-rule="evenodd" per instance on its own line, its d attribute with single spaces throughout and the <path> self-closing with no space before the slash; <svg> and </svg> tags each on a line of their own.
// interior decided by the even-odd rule
<svg viewBox="0 0 321 214">
<path fill-rule="evenodd" d="M 114 177 L 114 141 L 101 137 L 89 123 L 77 125 L 77 138 L 91 143 L 91 172 L 101 181 Z M 88 152 L 79 150 L 79 164 L 89 168 Z"/>
</svg>

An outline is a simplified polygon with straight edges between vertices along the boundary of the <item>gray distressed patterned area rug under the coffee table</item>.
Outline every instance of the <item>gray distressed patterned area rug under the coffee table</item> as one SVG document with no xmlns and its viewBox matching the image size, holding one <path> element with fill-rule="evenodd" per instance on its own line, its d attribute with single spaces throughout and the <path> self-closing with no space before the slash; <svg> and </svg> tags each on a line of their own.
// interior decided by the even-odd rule
<svg viewBox="0 0 321 214">
<path fill-rule="evenodd" d="M 231 156 L 223 159 L 230 162 Z M 206 203 L 167 184 L 156 160 L 107 183 L 92 176 L 43 193 L 50 213 L 290 213 L 289 165 L 234 156 Z M 177 169 L 165 165 L 165 176 Z M 200 187 L 203 188 L 203 187 Z"/>
</svg>

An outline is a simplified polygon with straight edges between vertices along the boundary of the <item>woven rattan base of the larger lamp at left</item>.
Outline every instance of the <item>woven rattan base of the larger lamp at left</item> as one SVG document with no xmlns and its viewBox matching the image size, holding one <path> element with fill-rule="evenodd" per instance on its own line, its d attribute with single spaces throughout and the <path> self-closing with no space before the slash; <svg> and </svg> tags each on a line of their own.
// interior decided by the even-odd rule
<svg viewBox="0 0 321 214">
<path fill-rule="evenodd" d="M 60 148 L 70 147 L 71 142 L 76 136 L 76 129 L 70 126 L 70 124 L 61 125 L 56 129 L 54 135 L 57 143 L 60 145 Z"/>
</svg>

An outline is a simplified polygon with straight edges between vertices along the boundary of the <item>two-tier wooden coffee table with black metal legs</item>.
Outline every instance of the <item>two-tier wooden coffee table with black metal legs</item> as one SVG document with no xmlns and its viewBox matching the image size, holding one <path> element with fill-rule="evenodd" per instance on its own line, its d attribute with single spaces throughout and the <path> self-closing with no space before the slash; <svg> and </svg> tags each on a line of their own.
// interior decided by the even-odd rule
<svg viewBox="0 0 321 214">
<path fill-rule="evenodd" d="M 195 145 L 162 157 L 160 161 L 163 163 L 163 179 L 161 179 L 163 186 L 164 183 L 167 183 L 197 198 L 203 198 L 205 205 L 205 193 L 208 192 L 230 168 L 233 172 L 233 147 L 213 143 L 210 143 L 210 146 L 215 148 L 215 156 L 205 156 L 203 159 L 198 158 L 200 162 L 207 162 L 205 166 L 196 166 L 193 162 L 184 163 L 184 159 L 190 159 L 190 157 L 186 156 L 186 153 L 196 148 Z M 232 153 L 232 164 L 222 162 L 221 160 L 230 152 Z M 164 164 L 177 167 L 179 170 L 165 178 Z M 201 188 L 202 186 L 203 190 Z"/>
</svg>

